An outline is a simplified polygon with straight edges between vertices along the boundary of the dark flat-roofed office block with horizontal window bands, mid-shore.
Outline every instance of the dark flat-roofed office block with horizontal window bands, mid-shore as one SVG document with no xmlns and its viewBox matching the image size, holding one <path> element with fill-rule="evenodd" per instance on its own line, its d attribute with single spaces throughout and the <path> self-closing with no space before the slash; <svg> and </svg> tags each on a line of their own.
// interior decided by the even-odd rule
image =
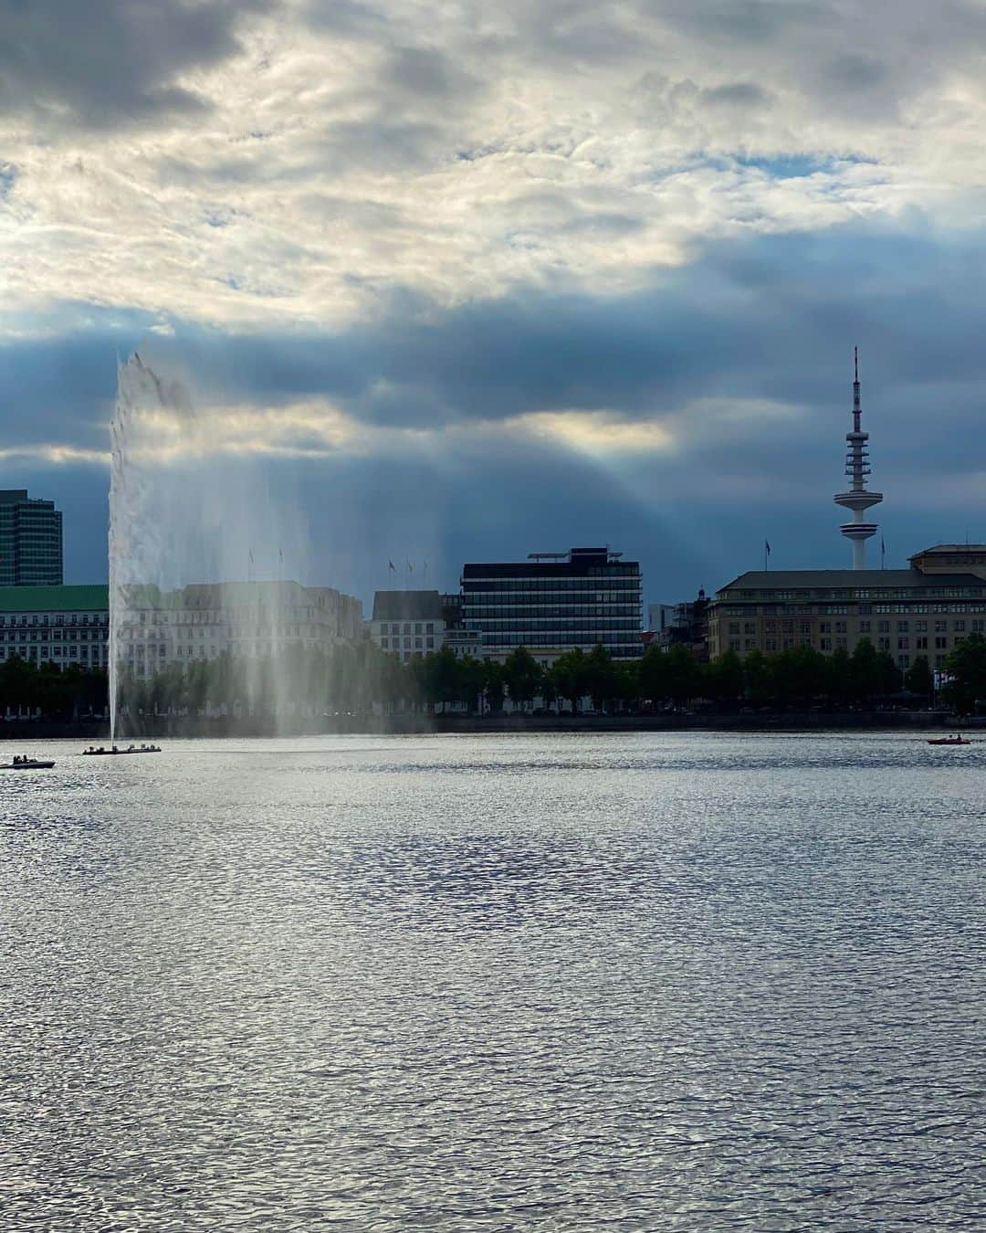
<svg viewBox="0 0 986 1233">
<path fill-rule="evenodd" d="M 640 563 L 605 547 L 573 547 L 466 565 L 462 620 L 482 634 L 491 657 L 525 646 L 545 658 L 601 642 L 614 658 L 635 660 L 642 651 Z"/>
</svg>

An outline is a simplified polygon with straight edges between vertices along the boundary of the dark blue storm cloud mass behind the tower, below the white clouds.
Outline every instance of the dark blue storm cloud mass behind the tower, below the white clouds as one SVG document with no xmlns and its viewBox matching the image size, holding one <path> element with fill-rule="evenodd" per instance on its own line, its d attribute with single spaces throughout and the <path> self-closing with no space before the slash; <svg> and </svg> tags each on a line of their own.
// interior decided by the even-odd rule
<svg viewBox="0 0 986 1233">
<path fill-rule="evenodd" d="M 352 417 L 426 434 L 376 453 L 270 460 L 272 488 L 303 492 L 312 525 L 333 528 L 316 536 L 332 545 L 320 581 L 361 594 L 387 584 L 372 566 L 381 552 L 386 566 L 387 545 L 428 556 L 451 586 L 471 557 L 608 540 L 661 580 L 650 598 L 674 598 L 756 567 L 763 538 L 776 563 L 843 563 L 831 494 L 842 483 L 854 343 L 889 563 L 926 540 L 986 538 L 985 276 L 979 239 L 845 231 L 711 248 L 616 300 L 526 292 L 439 311 L 402 297 L 344 334 L 237 337 L 176 323 L 175 339 L 152 335 L 142 348 L 180 356 L 238 403 L 324 396 Z M 96 321 L 90 332 L 6 345 L 7 449 L 106 448 L 116 354 L 147 321 Z M 678 446 L 606 456 L 476 424 L 573 407 L 664 419 Z M 442 424 L 457 427 L 446 436 Z M 102 518 L 102 467 L 15 455 L 5 475 L 64 492 L 89 510 L 90 529 Z M 100 567 L 102 540 L 94 545 L 74 577 Z"/>
</svg>

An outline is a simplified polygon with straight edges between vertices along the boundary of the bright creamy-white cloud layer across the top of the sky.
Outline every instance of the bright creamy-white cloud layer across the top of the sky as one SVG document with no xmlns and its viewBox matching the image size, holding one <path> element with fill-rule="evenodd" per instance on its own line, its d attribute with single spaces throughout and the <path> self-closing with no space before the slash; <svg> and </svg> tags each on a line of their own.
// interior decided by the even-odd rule
<svg viewBox="0 0 986 1233">
<path fill-rule="evenodd" d="M 46 105 L 0 118 L 6 314 L 339 324 L 393 287 L 616 292 L 709 238 L 977 217 L 971 0 L 285 0 L 224 5 L 201 54 L 175 4 L 147 90 L 59 86 L 48 48 Z"/>
</svg>

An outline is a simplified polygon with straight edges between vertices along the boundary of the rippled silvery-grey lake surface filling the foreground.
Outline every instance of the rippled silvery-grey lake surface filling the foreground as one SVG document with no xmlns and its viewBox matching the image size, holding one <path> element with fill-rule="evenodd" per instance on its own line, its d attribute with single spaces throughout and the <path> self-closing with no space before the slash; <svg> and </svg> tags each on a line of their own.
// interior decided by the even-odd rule
<svg viewBox="0 0 986 1233">
<path fill-rule="evenodd" d="M 4 1229 L 986 1224 L 986 740 L 0 773 Z"/>
</svg>

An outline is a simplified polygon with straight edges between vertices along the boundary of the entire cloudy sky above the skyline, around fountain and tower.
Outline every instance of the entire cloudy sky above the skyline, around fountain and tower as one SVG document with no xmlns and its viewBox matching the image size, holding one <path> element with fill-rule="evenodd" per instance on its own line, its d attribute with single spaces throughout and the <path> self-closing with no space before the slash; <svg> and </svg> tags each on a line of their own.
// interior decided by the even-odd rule
<svg viewBox="0 0 986 1233">
<path fill-rule="evenodd" d="M 858 345 L 871 562 L 986 540 L 985 62 L 982 0 L 0 0 L 0 487 L 105 578 L 141 349 L 302 582 L 675 602 L 849 563 Z"/>
</svg>

